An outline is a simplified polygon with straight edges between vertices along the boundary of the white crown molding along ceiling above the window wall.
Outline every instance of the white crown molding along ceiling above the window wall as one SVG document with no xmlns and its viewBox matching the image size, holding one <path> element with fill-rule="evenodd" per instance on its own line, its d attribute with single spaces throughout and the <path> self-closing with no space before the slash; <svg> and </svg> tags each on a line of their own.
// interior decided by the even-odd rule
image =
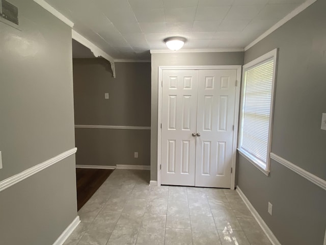
<svg viewBox="0 0 326 245">
<path fill-rule="evenodd" d="M 249 48 L 251 48 L 252 46 L 254 46 L 255 44 L 257 44 L 259 41 L 261 41 L 265 37 L 267 37 L 270 33 L 274 32 L 276 29 L 278 29 L 281 26 L 283 26 L 283 24 L 285 24 L 287 21 L 289 21 L 290 19 L 292 19 L 297 14 L 301 13 L 302 11 L 304 11 L 306 8 L 308 8 L 310 5 L 312 5 L 316 1 L 317 0 L 307 0 L 302 5 L 298 6 L 294 10 L 292 10 L 283 19 L 281 19 L 279 22 L 277 22 L 273 27 L 269 28 L 266 32 L 264 32 L 263 34 L 261 34 L 254 41 L 252 41 L 250 44 L 248 44 L 246 47 L 244 47 L 244 51 L 249 50 Z"/>
</svg>

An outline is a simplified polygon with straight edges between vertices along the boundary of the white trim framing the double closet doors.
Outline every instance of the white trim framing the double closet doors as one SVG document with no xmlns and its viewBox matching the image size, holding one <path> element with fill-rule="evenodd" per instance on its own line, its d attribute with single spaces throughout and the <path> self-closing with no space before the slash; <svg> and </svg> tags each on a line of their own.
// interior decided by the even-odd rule
<svg viewBox="0 0 326 245">
<path fill-rule="evenodd" d="M 235 161 L 238 138 L 238 122 L 240 107 L 240 83 L 241 83 L 241 65 L 196 65 L 196 66 L 158 66 L 158 98 L 157 98 L 157 186 L 161 185 L 161 123 L 162 123 L 162 72 L 163 70 L 204 70 L 204 69 L 236 69 L 236 88 L 234 104 L 234 132 L 232 146 L 232 173 L 231 189 L 235 188 Z"/>
</svg>

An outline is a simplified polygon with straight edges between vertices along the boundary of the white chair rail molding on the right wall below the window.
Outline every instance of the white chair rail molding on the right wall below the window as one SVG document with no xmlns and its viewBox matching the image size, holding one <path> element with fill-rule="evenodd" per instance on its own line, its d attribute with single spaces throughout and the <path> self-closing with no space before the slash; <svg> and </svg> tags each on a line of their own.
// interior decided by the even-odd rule
<svg viewBox="0 0 326 245">
<path fill-rule="evenodd" d="M 317 185 L 317 186 L 323 188 L 324 190 L 326 190 L 326 180 L 323 180 L 323 179 L 319 178 L 318 176 L 315 176 L 315 175 L 309 173 L 305 169 L 296 166 L 292 162 L 289 162 L 288 160 L 285 160 L 284 158 L 276 155 L 275 153 L 271 152 L 270 153 L 270 158 L 277 161 L 278 163 L 286 166 L 287 168 L 294 171 L 296 174 L 301 175 L 302 177 L 304 177 L 305 179 L 307 179 L 310 182 L 314 183 L 315 185 Z"/>
</svg>

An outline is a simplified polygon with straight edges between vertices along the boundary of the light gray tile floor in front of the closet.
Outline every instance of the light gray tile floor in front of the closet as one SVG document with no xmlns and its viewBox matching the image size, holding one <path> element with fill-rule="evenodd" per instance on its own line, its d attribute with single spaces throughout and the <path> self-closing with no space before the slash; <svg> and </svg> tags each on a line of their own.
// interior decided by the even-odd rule
<svg viewBox="0 0 326 245">
<path fill-rule="evenodd" d="M 234 190 L 149 186 L 116 169 L 79 210 L 65 245 L 271 245 Z"/>
</svg>

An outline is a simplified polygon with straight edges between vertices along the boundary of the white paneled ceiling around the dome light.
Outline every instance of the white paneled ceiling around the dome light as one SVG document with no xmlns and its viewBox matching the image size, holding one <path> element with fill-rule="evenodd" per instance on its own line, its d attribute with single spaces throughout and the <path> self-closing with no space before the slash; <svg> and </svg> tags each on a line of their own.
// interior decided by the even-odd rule
<svg viewBox="0 0 326 245">
<path fill-rule="evenodd" d="M 183 48 L 243 48 L 305 0 L 46 0 L 115 59 L 149 59 L 182 36 Z"/>
</svg>

